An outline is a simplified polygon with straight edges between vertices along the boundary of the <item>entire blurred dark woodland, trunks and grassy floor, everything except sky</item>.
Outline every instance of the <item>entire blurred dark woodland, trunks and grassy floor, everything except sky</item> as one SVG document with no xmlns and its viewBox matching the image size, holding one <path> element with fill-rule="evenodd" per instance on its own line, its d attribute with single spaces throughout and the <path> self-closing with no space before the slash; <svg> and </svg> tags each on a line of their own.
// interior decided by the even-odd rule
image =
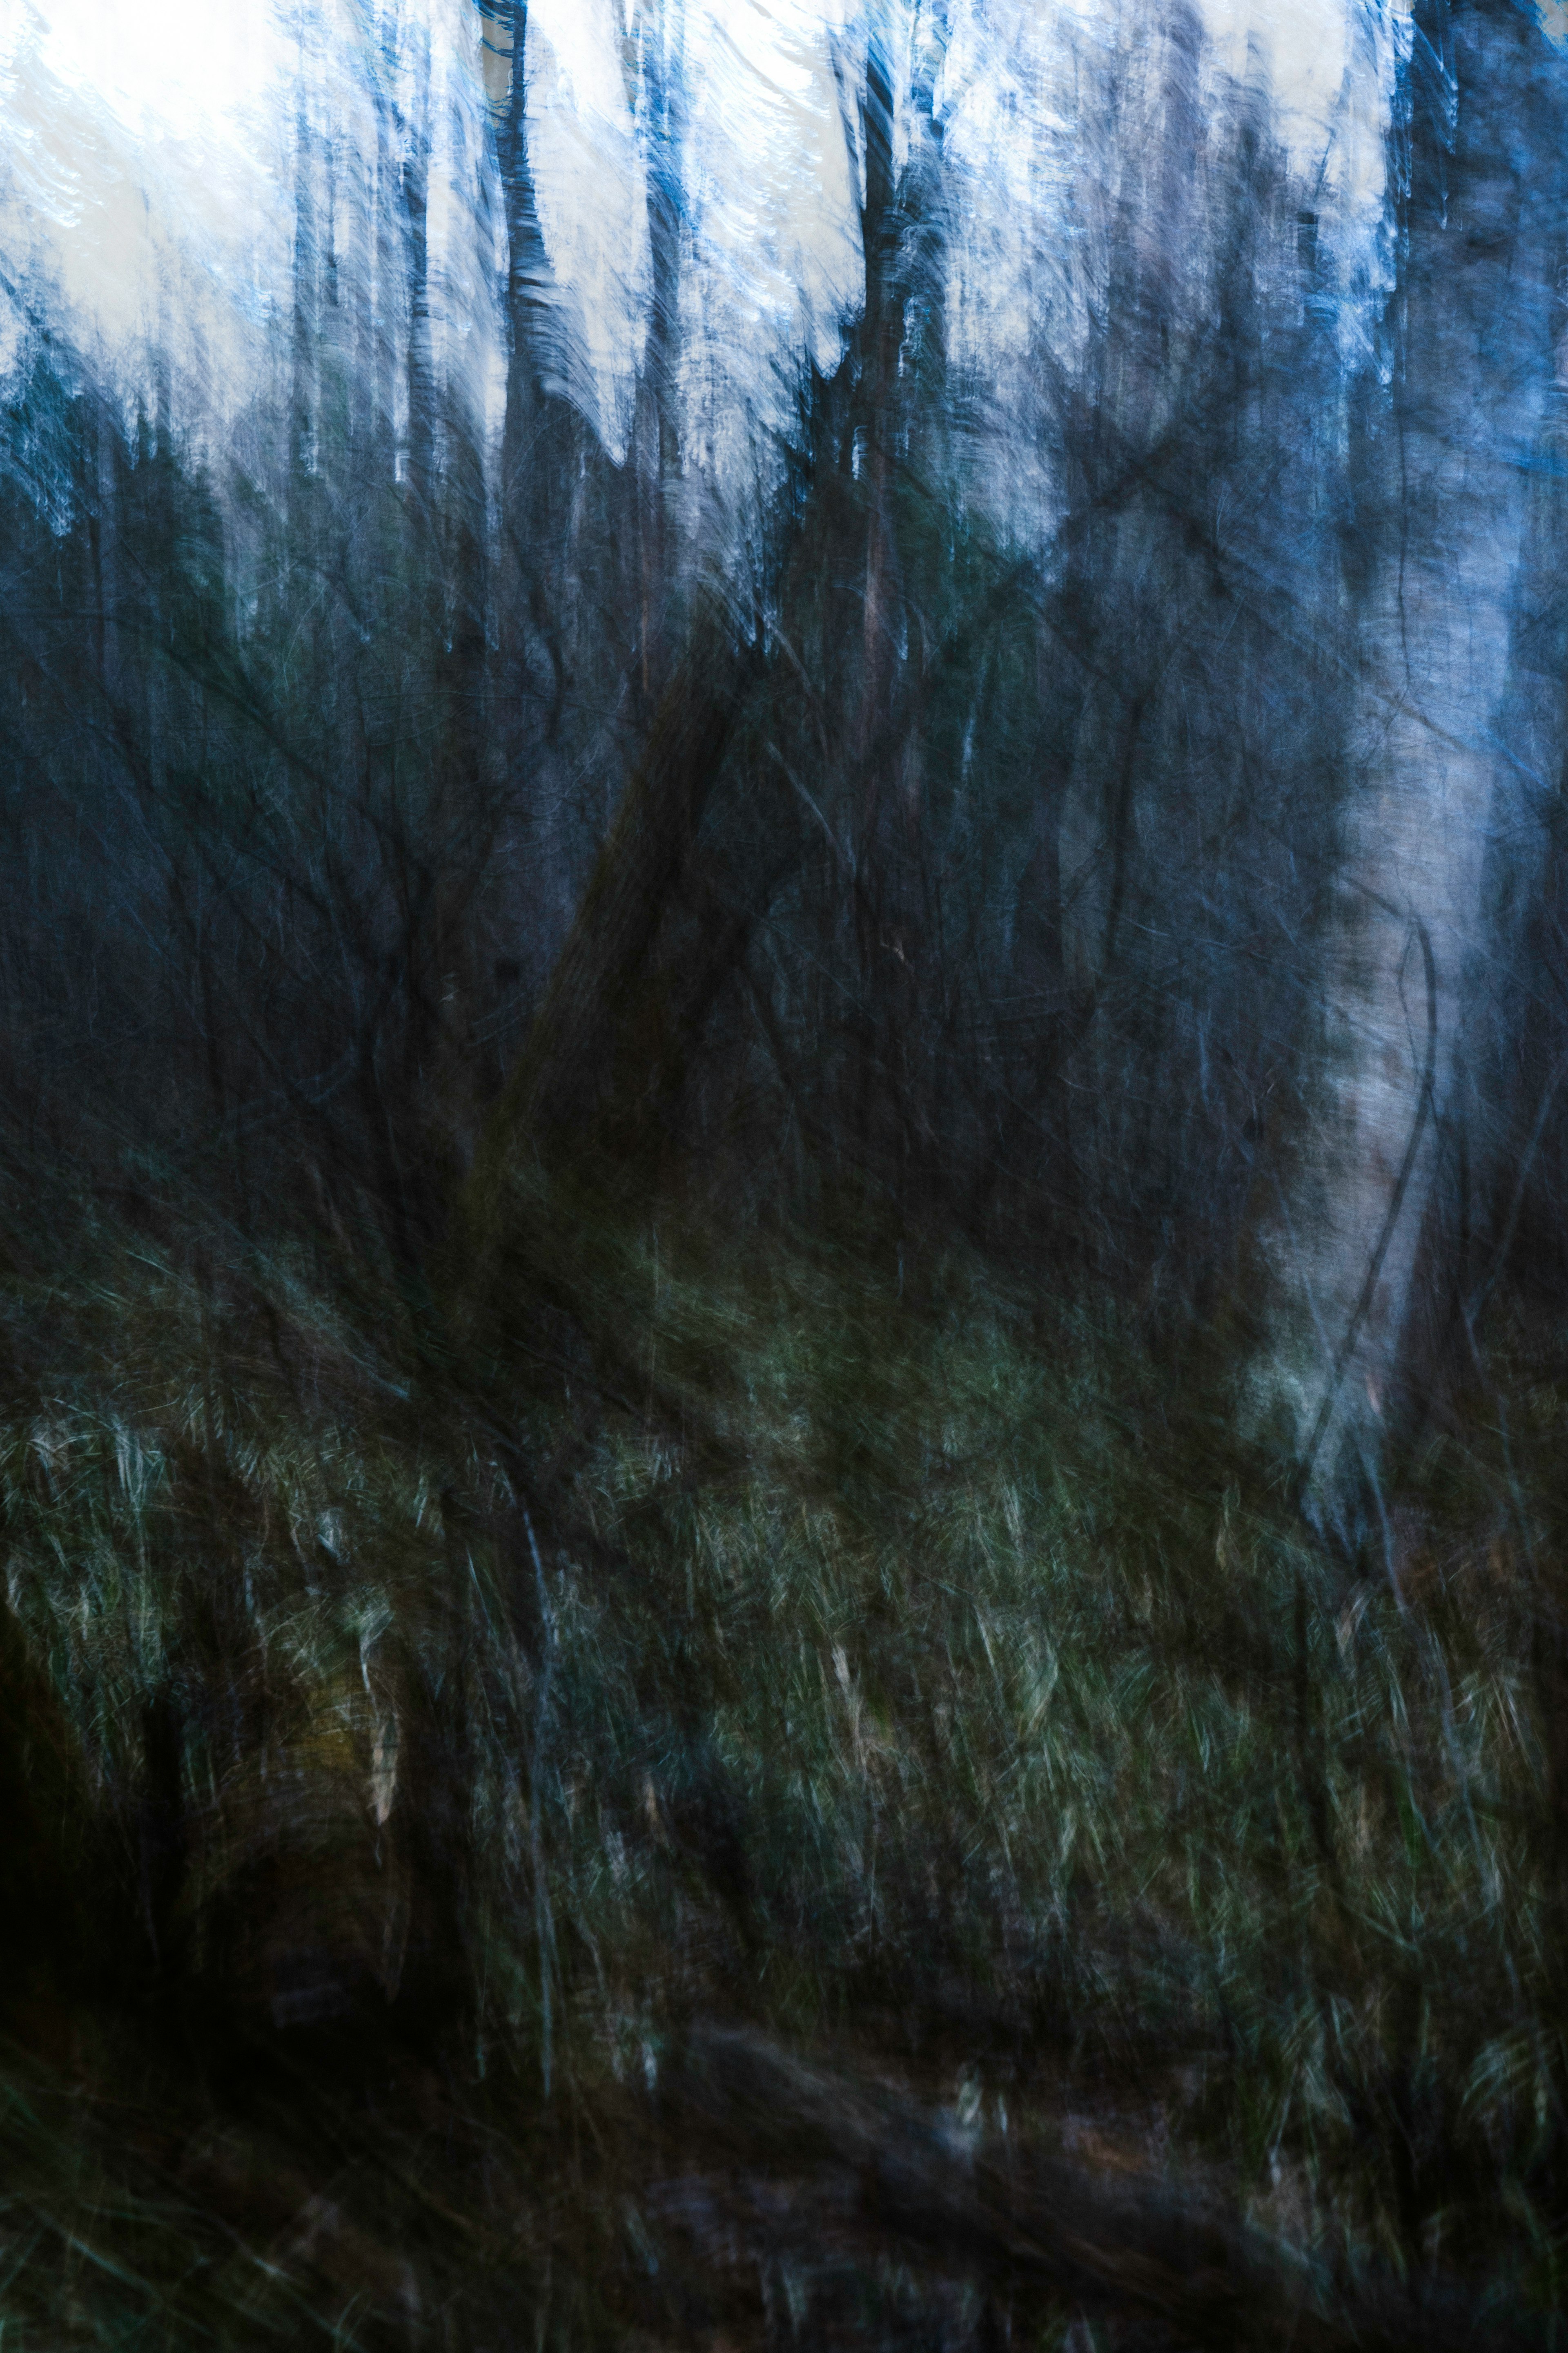
<svg viewBox="0 0 1568 2353">
<path fill-rule="evenodd" d="M 7 280 L 0 2327 L 1544 2346 L 1568 56 L 1420 0 L 1352 348 L 1267 82 L 1086 40 L 1023 532 L 945 16 L 743 506 L 637 26 L 618 454 L 522 0 L 498 447 L 386 28 L 270 438 Z"/>
</svg>

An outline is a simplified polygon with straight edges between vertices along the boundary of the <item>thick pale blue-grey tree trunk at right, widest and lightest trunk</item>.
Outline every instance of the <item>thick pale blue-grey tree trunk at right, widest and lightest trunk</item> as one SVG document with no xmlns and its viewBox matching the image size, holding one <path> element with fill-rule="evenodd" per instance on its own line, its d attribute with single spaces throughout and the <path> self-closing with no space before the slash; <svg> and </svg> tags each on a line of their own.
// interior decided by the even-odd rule
<svg viewBox="0 0 1568 2353">
<path fill-rule="evenodd" d="M 1521 765 L 1509 668 L 1561 259 L 1554 61 L 1537 28 L 1472 5 L 1448 56 L 1420 47 L 1425 31 L 1396 374 L 1371 447 L 1373 520 L 1356 518 L 1373 539 L 1356 774 L 1319 1071 L 1265 1245 L 1274 1299 L 1255 1391 L 1284 1414 L 1300 1499 L 1345 1529 L 1434 1369 L 1418 1294 L 1474 1108 L 1467 1047 L 1488 861 Z M 1474 1165 L 1486 1136 L 1467 1146 Z"/>
</svg>

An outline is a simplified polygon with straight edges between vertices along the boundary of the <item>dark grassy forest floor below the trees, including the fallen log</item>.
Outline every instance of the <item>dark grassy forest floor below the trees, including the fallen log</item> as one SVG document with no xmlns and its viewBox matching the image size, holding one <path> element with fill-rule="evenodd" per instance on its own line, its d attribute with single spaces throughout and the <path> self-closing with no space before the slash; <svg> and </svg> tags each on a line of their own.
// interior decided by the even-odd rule
<svg viewBox="0 0 1568 2353">
<path fill-rule="evenodd" d="M 1568 1358 L 1349 1558 L 1126 1308 L 536 1217 L 9 1238 L 5 2353 L 1554 2341 Z"/>
</svg>

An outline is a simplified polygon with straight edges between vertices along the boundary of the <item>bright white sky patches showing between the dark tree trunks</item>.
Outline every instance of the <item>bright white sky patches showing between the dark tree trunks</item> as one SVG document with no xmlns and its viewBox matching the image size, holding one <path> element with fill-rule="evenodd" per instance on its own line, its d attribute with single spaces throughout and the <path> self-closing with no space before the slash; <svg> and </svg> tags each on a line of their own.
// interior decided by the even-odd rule
<svg viewBox="0 0 1568 2353">
<path fill-rule="evenodd" d="M 390 9 L 402 26 L 393 82 L 407 85 L 409 59 L 428 54 L 442 125 L 433 172 L 442 348 L 494 407 L 496 231 L 475 207 L 480 16 L 473 0 L 383 0 L 383 24 Z M 85 341 L 120 355 L 129 374 L 136 353 L 169 346 L 181 381 L 200 388 L 190 398 L 221 426 L 275 358 L 273 329 L 287 315 L 301 64 L 339 151 L 374 144 L 346 71 L 369 12 L 369 0 L 0 0 L 7 280 L 28 264 L 42 271 Z M 583 400 L 611 447 L 625 435 L 646 318 L 642 158 L 623 56 L 630 12 L 632 0 L 529 7 L 541 219 L 583 353 Z M 1269 82 L 1302 188 L 1347 245 L 1371 254 L 1394 0 L 1204 0 L 1204 12 L 1213 64 Z M 665 16 L 677 14 L 665 0 Z M 696 261 L 684 329 L 696 442 L 717 447 L 738 431 L 745 402 L 733 395 L 759 395 L 778 358 L 811 348 L 830 362 L 853 308 L 858 191 L 835 45 L 853 59 L 856 14 L 856 0 L 686 0 Z M 954 332 L 999 365 L 1037 332 L 1030 304 L 1048 282 L 1051 249 L 1070 249 L 1084 59 L 1133 52 L 1150 21 L 1147 0 L 950 0 L 938 111 L 964 191 Z M 0 327 L 0 365 L 7 336 L 14 346 L 16 320 Z"/>
</svg>

